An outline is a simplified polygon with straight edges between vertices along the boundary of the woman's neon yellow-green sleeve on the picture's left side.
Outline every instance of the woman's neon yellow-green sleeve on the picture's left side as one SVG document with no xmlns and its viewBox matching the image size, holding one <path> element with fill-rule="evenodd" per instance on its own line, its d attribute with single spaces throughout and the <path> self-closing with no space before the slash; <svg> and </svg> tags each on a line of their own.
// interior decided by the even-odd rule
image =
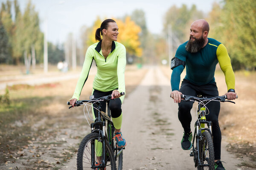
<svg viewBox="0 0 256 170">
<path fill-rule="evenodd" d="M 88 78 L 92 62 L 93 62 L 93 49 L 88 48 L 86 51 L 86 54 L 85 54 L 85 58 L 84 58 L 84 65 L 83 65 L 80 77 L 77 81 L 76 89 L 72 96 L 72 99 L 79 100 L 79 96 L 81 94 L 84 83 L 86 82 L 86 80 Z"/>
</svg>

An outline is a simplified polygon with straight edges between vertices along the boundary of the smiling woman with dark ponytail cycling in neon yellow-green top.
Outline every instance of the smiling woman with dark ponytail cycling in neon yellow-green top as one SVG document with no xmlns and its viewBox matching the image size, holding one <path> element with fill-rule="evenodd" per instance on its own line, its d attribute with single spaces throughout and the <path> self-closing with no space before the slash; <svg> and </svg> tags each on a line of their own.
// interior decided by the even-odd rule
<svg viewBox="0 0 256 170">
<path fill-rule="evenodd" d="M 102 35 L 102 39 L 100 34 Z M 70 104 L 74 106 L 75 102 L 79 100 L 81 90 L 88 78 L 94 59 L 97 66 L 97 74 L 93 81 L 92 94 L 95 98 L 111 94 L 114 100 L 109 102 L 109 108 L 115 127 L 115 140 L 118 147 L 125 147 L 126 141 L 121 133 L 121 105 L 124 96 L 120 96 L 120 93 L 125 92 L 126 50 L 124 45 L 116 42 L 118 34 L 118 26 L 111 19 L 103 21 L 100 28 L 96 30 L 95 39 L 99 40 L 99 42 L 96 42 L 87 49 L 81 75 L 78 79 L 73 97 L 70 99 Z M 106 103 L 102 102 L 101 104 L 102 111 L 105 112 Z M 96 109 L 93 112 L 95 118 Z M 100 161 L 100 158 L 98 160 Z"/>
</svg>

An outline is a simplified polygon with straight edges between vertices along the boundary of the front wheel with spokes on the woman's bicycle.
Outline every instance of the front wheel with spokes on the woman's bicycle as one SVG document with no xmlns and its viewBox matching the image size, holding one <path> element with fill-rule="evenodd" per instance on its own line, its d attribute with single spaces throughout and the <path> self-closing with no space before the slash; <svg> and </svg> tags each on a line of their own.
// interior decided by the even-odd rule
<svg viewBox="0 0 256 170">
<path fill-rule="evenodd" d="M 99 133 L 90 133 L 82 139 L 77 153 L 77 169 L 92 170 L 92 166 L 102 161 L 102 140 L 99 139 Z M 106 141 L 106 169 L 116 170 L 115 157 L 109 143 Z M 94 161 L 93 161 L 94 158 Z M 93 161 L 93 162 L 92 162 Z"/>
</svg>

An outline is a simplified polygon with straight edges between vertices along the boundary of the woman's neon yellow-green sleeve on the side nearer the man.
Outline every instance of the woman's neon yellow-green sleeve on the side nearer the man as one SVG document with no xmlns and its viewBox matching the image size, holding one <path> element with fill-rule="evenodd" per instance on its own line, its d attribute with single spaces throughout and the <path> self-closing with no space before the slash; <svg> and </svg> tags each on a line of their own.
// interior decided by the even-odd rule
<svg viewBox="0 0 256 170">
<path fill-rule="evenodd" d="M 126 50 L 125 46 L 122 45 L 120 53 L 117 59 L 117 78 L 118 78 L 118 91 L 125 92 L 125 65 L 126 65 Z M 123 97 L 120 97 L 121 101 Z"/>
</svg>

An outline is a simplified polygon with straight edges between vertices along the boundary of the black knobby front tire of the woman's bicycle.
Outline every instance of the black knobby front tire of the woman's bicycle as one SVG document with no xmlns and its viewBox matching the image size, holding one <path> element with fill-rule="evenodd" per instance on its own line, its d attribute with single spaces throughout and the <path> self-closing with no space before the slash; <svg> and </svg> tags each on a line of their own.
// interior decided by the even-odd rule
<svg viewBox="0 0 256 170">
<path fill-rule="evenodd" d="M 91 170 L 91 145 L 99 139 L 99 133 L 90 133 L 82 139 L 76 159 L 77 170 Z M 96 147 L 96 146 L 95 146 Z M 96 151 L 94 150 L 95 158 Z M 115 157 L 110 144 L 106 141 L 106 170 L 116 170 Z"/>
</svg>

